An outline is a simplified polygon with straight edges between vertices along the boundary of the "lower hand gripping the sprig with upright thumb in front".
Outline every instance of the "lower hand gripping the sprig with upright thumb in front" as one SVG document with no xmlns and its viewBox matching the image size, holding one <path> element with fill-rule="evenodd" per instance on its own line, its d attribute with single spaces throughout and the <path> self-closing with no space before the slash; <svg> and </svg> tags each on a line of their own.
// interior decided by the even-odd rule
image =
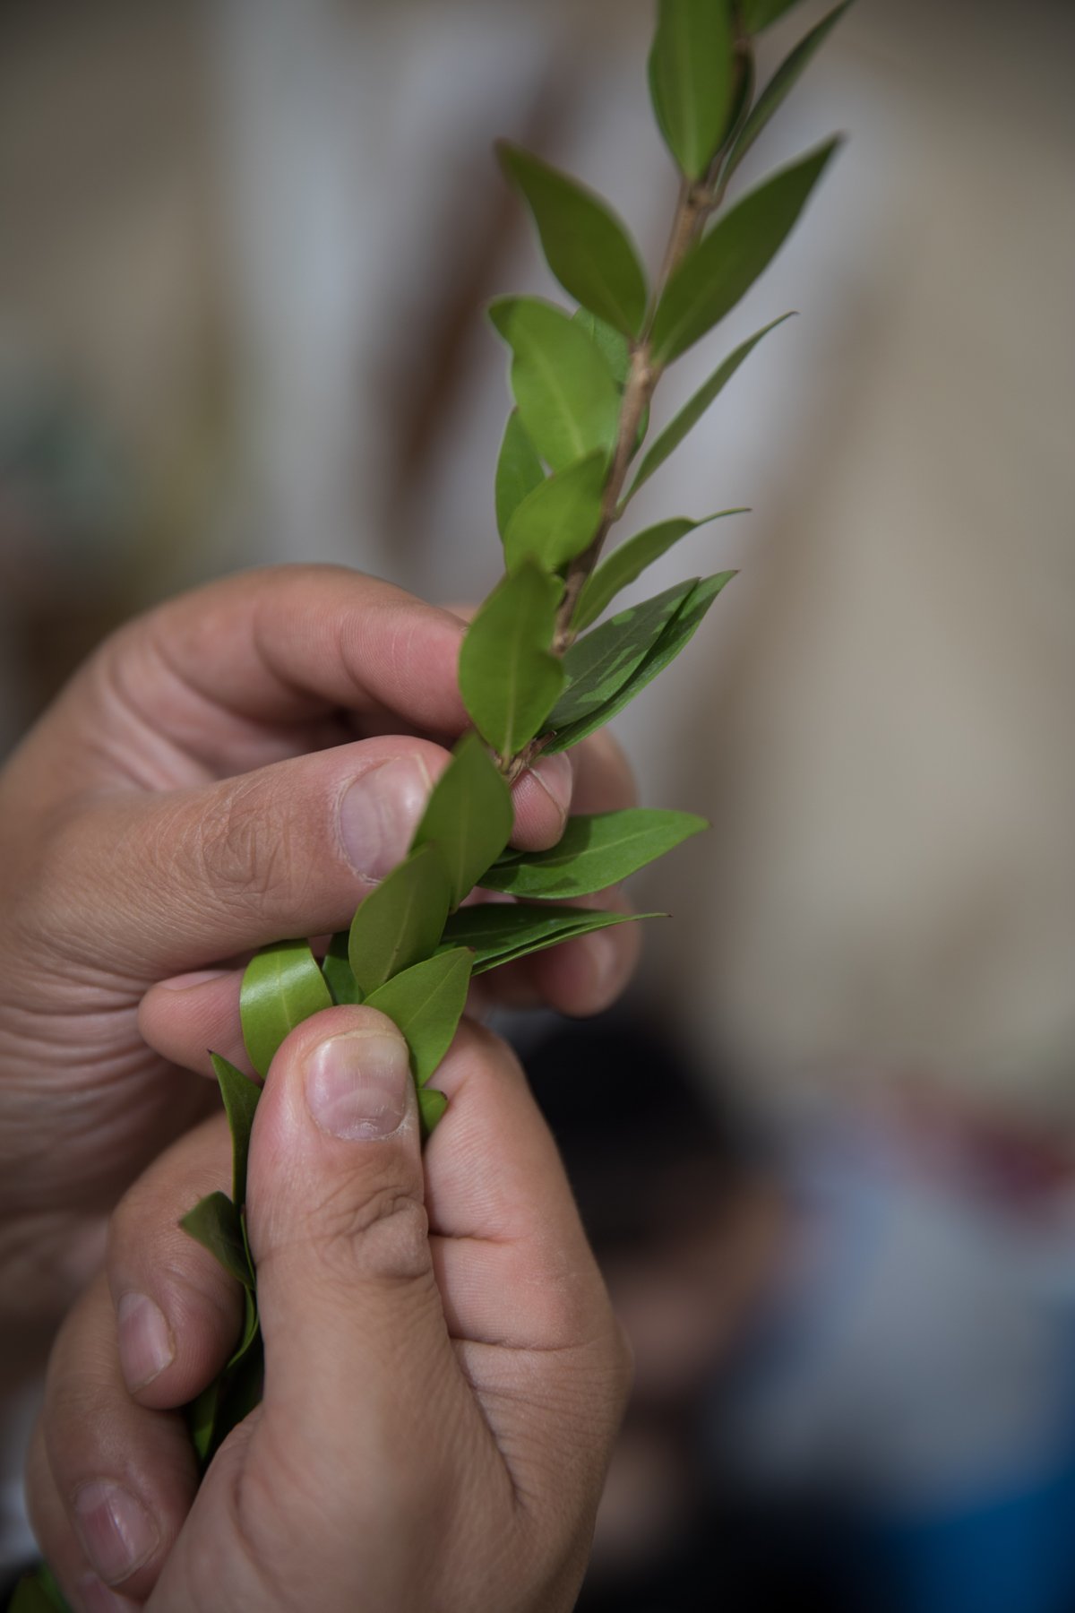
<svg viewBox="0 0 1075 1613">
<path fill-rule="evenodd" d="M 171 1408 L 227 1360 L 240 1305 L 177 1216 L 227 1186 L 222 1121 L 119 1205 L 31 1453 L 77 1613 L 574 1607 L 629 1352 L 514 1057 L 464 1021 L 437 1084 L 422 1157 L 388 1019 L 332 1008 L 280 1047 L 247 1187 L 264 1400 L 197 1494 Z"/>
</svg>

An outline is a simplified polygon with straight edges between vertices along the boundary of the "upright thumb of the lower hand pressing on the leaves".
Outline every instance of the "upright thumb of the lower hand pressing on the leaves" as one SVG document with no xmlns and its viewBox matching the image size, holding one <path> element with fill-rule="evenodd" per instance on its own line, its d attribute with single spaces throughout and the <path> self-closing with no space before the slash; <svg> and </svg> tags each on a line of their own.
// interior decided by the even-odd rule
<svg viewBox="0 0 1075 1613">
<path fill-rule="evenodd" d="M 293 1474 L 292 1528 L 306 1508 L 324 1528 L 338 1497 L 353 1529 L 371 1474 L 430 1461 L 422 1405 L 459 1392 L 422 1197 L 406 1042 L 372 1008 L 308 1019 L 272 1061 L 247 1184 L 266 1357 L 250 1468 Z"/>
</svg>

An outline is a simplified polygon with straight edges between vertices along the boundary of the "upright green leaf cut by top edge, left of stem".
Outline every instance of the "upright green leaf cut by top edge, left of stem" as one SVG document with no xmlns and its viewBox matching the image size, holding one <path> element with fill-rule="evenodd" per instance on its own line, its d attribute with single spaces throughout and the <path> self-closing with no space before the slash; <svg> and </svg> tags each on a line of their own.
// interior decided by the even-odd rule
<svg viewBox="0 0 1075 1613">
<path fill-rule="evenodd" d="M 728 0 L 659 0 L 650 95 L 664 140 L 688 179 L 703 179 L 732 110 Z"/>
</svg>

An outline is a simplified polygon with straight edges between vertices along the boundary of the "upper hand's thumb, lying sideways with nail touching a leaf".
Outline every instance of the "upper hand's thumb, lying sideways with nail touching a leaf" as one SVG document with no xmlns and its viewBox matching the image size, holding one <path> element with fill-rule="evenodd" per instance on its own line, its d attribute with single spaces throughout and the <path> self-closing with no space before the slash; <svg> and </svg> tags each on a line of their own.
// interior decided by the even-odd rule
<svg viewBox="0 0 1075 1613">
<path fill-rule="evenodd" d="M 406 855 L 448 755 L 369 739 L 239 779 L 81 805 L 24 869 L 68 944 L 106 950 L 147 984 L 280 936 L 350 924 Z M 556 839 L 564 805 L 530 774 L 521 837 Z"/>
</svg>

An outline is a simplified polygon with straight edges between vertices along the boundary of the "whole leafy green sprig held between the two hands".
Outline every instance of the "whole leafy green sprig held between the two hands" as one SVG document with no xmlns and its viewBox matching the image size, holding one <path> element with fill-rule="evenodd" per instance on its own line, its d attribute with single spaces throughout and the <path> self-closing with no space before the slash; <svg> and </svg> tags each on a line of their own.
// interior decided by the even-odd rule
<svg viewBox="0 0 1075 1613">
<path fill-rule="evenodd" d="M 369 1003 L 408 1040 L 429 1134 L 446 1102 L 429 1081 L 454 1036 L 471 977 L 625 923 L 619 913 L 559 903 L 617 884 L 703 827 L 690 813 L 603 813 L 569 819 L 551 852 L 522 853 L 509 848 L 509 784 L 538 753 L 579 744 L 633 700 L 685 648 L 733 574 L 691 577 L 593 626 L 646 566 L 716 519 L 661 521 L 598 565 L 635 492 L 782 323 L 764 326 L 714 369 L 627 486 L 662 371 L 712 331 L 766 269 L 838 144 L 827 140 L 772 174 L 711 223 L 745 155 L 849 0 L 807 32 L 756 94 L 753 37 L 793 3 L 658 0 L 650 92 L 680 195 L 654 286 L 606 202 L 529 152 L 500 147 L 572 308 L 533 297 L 506 297 L 490 308 L 511 353 L 514 406 L 495 487 L 504 577 L 477 611 L 459 656 L 474 729 L 456 745 L 409 855 L 366 898 L 350 932 L 335 936 L 321 961 L 305 940 L 288 940 L 248 966 L 242 1026 L 263 1077 L 287 1032 L 309 1015 L 332 1003 Z M 738 511 L 720 511 L 730 513 Z M 509 900 L 463 907 L 475 886 Z M 232 1126 L 232 1197 L 211 1194 L 184 1226 L 243 1286 L 247 1315 L 224 1374 L 190 1408 L 201 1461 L 261 1392 L 243 1211 L 259 1089 L 226 1060 L 213 1061 Z M 34 1613 L 61 1608 L 63 1600 L 47 1576 L 26 1581 L 11 1607 Z"/>
</svg>

